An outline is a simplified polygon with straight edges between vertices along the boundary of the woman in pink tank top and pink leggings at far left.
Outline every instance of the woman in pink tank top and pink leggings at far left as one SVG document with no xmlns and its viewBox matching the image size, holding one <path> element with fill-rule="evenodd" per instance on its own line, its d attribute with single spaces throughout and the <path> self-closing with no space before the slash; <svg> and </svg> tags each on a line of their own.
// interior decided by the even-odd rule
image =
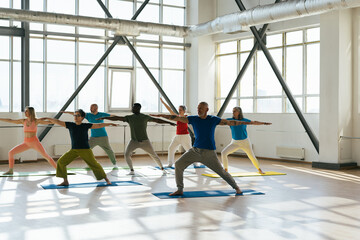
<svg viewBox="0 0 360 240">
<path fill-rule="evenodd" d="M 25 119 L 9 119 L 9 118 L 0 118 L 0 121 L 23 124 L 24 125 L 24 142 L 15 146 L 9 151 L 9 170 L 3 175 L 12 175 L 14 173 L 14 155 L 24 152 L 28 149 L 34 149 L 40 153 L 51 166 L 56 168 L 56 163 L 52 157 L 47 154 L 44 147 L 41 145 L 39 139 L 36 136 L 37 125 L 38 124 L 51 124 L 49 121 L 40 120 L 36 118 L 35 110 L 33 107 L 25 108 Z"/>
</svg>

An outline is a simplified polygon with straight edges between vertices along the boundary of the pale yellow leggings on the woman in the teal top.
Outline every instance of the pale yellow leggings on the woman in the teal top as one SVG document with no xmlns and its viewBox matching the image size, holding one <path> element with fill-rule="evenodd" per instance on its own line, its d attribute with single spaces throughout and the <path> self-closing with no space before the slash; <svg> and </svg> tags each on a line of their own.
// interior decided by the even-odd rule
<svg viewBox="0 0 360 240">
<path fill-rule="evenodd" d="M 222 150 L 221 152 L 221 160 L 224 164 L 224 168 L 228 169 L 229 164 L 228 164 L 228 158 L 227 156 L 237 150 L 243 150 L 246 155 L 250 158 L 252 164 L 256 167 L 256 169 L 259 170 L 260 166 L 259 166 L 259 162 L 255 157 L 255 154 L 251 148 L 251 142 L 249 138 L 246 138 L 244 140 L 231 140 L 231 143 L 229 145 L 227 145 L 224 150 Z"/>
</svg>

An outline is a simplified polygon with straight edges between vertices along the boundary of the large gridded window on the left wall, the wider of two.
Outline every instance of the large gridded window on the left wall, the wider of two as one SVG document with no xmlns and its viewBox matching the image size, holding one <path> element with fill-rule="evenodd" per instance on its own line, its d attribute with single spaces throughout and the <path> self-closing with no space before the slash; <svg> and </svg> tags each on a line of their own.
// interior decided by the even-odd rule
<svg viewBox="0 0 360 240">
<path fill-rule="evenodd" d="M 131 19 L 144 1 L 103 1 L 114 18 Z M 21 8 L 21 1 L 0 1 L 0 7 Z M 96 0 L 31 0 L 30 10 L 106 17 Z M 184 0 L 150 1 L 137 20 L 184 25 Z M 0 20 L 0 26 L 20 22 Z M 30 23 L 30 105 L 38 112 L 57 112 L 88 76 L 113 33 L 101 29 Z M 142 61 L 174 105 L 184 104 L 185 41 L 183 38 L 141 34 L 128 36 Z M 0 111 L 21 108 L 21 38 L 0 36 Z M 129 110 L 142 104 L 144 112 L 163 111 L 159 91 L 126 45 L 118 44 L 91 76 L 67 110 Z"/>
</svg>

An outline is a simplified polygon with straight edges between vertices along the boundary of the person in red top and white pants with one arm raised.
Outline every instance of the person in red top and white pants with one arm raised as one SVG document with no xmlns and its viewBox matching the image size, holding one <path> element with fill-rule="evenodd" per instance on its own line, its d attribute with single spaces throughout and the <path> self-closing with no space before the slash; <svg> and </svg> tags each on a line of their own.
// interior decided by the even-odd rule
<svg viewBox="0 0 360 240">
<path fill-rule="evenodd" d="M 179 106 L 179 115 L 174 113 L 171 108 L 160 98 L 160 101 L 164 104 L 166 109 L 170 112 L 171 115 L 176 115 L 179 117 L 185 117 L 185 111 L 186 107 L 184 105 Z M 175 158 L 175 152 L 178 146 L 181 145 L 185 151 L 188 151 L 190 148 L 192 148 L 191 145 L 191 137 L 189 135 L 188 126 L 187 123 L 183 122 L 176 122 L 176 135 L 171 140 L 171 143 L 168 148 L 168 166 L 172 167 L 174 164 L 174 158 Z"/>
</svg>

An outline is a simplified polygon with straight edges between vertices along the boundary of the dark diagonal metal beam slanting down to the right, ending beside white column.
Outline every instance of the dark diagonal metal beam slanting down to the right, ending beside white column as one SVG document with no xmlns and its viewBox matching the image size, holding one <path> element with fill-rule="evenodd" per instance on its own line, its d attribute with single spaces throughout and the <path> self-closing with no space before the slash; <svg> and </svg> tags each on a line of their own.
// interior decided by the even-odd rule
<svg viewBox="0 0 360 240">
<path fill-rule="evenodd" d="M 244 5 L 242 4 L 241 0 L 235 0 L 238 7 L 240 8 L 241 11 L 244 11 L 245 10 L 245 7 Z M 251 32 L 254 34 L 256 40 L 257 40 L 257 43 L 260 44 L 260 47 L 264 53 L 264 55 L 266 56 L 271 68 L 273 69 L 276 77 L 278 78 L 286 96 L 288 97 L 292 107 L 294 108 L 300 122 L 302 123 L 303 127 L 305 128 L 305 131 L 306 133 L 308 134 L 311 142 L 313 143 L 316 151 L 319 153 L 319 140 L 317 139 L 317 137 L 315 136 L 315 134 L 312 132 L 310 126 L 307 124 L 300 108 L 298 107 L 294 97 L 292 96 L 291 94 L 291 91 L 290 89 L 288 88 L 286 82 L 284 81 L 284 79 L 282 78 L 281 76 L 281 73 L 279 71 L 279 69 L 277 68 L 276 66 L 276 63 L 274 61 L 274 59 L 272 58 L 269 50 L 267 49 L 267 47 L 265 46 L 265 44 L 261 41 L 261 37 L 259 36 L 259 33 L 257 32 L 256 28 L 255 27 L 251 27 Z"/>
</svg>

